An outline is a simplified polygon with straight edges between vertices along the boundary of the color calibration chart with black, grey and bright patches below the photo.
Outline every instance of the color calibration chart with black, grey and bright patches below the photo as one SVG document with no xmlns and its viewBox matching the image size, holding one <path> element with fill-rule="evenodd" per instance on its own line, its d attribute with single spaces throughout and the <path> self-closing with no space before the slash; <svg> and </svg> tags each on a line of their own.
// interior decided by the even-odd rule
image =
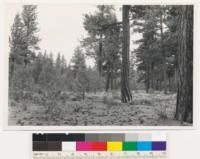
<svg viewBox="0 0 200 159">
<path fill-rule="evenodd" d="M 166 159 L 165 133 L 33 134 L 33 159 Z"/>
</svg>

